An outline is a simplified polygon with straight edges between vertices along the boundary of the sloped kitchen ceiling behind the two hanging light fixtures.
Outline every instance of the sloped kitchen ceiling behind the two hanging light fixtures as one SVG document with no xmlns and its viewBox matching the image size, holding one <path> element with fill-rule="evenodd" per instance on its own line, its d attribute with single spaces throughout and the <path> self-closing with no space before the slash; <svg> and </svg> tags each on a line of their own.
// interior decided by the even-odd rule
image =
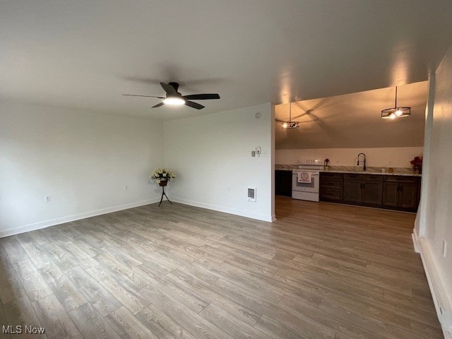
<svg viewBox="0 0 452 339">
<path fill-rule="evenodd" d="M 398 88 L 398 107 L 411 107 L 410 117 L 381 119 L 394 107 L 395 88 L 323 97 L 292 103 L 298 129 L 275 126 L 276 149 L 417 147 L 424 144 L 427 81 Z M 275 106 L 275 118 L 289 119 L 289 104 Z"/>
</svg>

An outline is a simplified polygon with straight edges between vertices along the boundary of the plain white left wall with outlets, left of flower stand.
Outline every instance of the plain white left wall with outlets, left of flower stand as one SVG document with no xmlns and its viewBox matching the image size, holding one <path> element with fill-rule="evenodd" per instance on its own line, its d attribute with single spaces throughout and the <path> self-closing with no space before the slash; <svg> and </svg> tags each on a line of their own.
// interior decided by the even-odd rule
<svg viewBox="0 0 452 339">
<path fill-rule="evenodd" d="M 0 102 L 0 237 L 157 201 L 162 138 L 149 119 Z"/>
</svg>

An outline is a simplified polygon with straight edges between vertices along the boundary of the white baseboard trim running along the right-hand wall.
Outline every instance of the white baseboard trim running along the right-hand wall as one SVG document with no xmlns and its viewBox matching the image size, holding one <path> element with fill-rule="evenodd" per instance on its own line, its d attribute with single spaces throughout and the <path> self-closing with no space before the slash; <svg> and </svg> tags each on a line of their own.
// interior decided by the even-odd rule
<svg viewBox="0 0 452 339">
<path fill-rule="evenodd" d="M 451 291 L 448 291 L 441 280 L 441 275 L 438 272 L 438 268 L 435 264 L 432 251 L 427 241 L 418 237 L 415 232 L 412 233 L 412 240 L 415 249 L 418 249 L 418 253 L 421 255 L 422 265 L 424 266 L 425 275 L 427 276 L 427 282 L 429 283 L 430 292 L 432 293 L 432 299 L 436 309 L 436 315 L 438 316 L 439 323 L 444 333 L 444 338 L 451 338 L 452 336 L 452 305 L 451 297 L 449 295 Z"/>
</svg>

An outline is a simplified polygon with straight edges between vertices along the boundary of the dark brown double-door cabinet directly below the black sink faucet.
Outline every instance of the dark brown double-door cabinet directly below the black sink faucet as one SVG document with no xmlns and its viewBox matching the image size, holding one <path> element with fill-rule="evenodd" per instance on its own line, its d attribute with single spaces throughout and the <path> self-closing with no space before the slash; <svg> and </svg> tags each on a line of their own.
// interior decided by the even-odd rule
<svg viewBox="0 0 452 339">
<path fill-rule="evenodd" d="M 381 206 L 383 177 L 379 174 L 344 174 L 344 203 Z"/>
</svg>

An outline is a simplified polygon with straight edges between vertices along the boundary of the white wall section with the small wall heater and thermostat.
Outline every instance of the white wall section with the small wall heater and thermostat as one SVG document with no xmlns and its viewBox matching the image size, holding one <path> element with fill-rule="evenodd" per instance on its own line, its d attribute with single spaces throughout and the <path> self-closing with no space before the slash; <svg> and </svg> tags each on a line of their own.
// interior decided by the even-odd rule
<svg viewBox="0 0 452 339">
<path fill-rule="evenodd" d="M 256 112 L 261 117 L 256 119 Z M 167 191 L 174 201 L 249 218 L 274 218 L 270 103 L 164 122 L 165 165 L 177 180 Z M 261 157 L 251 157 L 260 146 Z M 256 202 L 247 187 L 256 187 Z"/>
</svg>

